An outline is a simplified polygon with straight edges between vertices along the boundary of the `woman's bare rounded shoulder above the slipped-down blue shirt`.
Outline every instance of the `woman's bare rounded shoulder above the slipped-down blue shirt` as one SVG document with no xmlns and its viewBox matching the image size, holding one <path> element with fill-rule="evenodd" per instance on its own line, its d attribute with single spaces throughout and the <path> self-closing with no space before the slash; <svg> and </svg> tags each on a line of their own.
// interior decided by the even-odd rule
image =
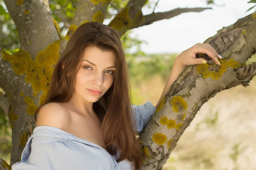
<svg viewBox="0 0 256 170">
<path fill-rule="evenodd" d="M 61 104 L 56 102 L 47 103 L 39 113 L 36 126 L 52 126 L 63 129 L 69 124 L 70 113 Z"/>
</svg>

